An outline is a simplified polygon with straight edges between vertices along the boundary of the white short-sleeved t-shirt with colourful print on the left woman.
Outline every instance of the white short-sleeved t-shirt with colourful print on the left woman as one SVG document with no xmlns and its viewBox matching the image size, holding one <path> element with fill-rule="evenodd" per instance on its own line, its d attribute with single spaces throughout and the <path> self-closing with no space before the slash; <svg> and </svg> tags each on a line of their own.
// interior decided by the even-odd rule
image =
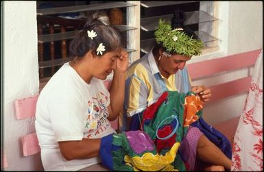
<svg viewBox="0 0 264 172">
<path fill-rule="evenodd" d="M 93 77 L 87 84 L 69 62 L 51 77 L 36 105 L 35 127 L 45 170 L 77 171 L 100 162 L 99 157 L 66 160 L 58 142 L 115 133 L 107 119 L 109 104 L 104 82 Z"/>
</svg>

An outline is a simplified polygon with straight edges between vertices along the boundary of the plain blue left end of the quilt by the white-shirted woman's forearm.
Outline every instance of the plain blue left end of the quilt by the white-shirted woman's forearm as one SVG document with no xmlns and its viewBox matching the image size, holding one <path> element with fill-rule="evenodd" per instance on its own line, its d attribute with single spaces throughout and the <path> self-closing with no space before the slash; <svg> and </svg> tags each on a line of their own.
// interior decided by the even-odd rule
<svg viewBox="0 0 264 172">
<path fill-rule="evenodd" d="M 113 170 L 112 139 L 113 134 L 109 134 L 108 136 L 102 137 L 99 149 L 99 157 L 101 158 L 101 163 L 105 167 L 108 167 L 111 171 Z M 117 149 L 117 147 L 115 147 L 114 149 Z"/>
</svg>

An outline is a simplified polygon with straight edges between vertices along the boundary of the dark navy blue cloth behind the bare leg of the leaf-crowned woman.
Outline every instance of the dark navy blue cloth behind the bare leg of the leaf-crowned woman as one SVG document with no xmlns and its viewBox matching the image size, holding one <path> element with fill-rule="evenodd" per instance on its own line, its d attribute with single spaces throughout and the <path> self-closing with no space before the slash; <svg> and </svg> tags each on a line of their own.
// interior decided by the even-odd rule
<svg viewBox="0 0 264 172">
<path fill-rule="evenodd" d="M 202 118 L 192 123 L 191 126 L 199 128 L 200 131 L 211 140 L 212 143 L 219 147 L 228 158 L 232 158 L 232 147 L 230 141 L 224 134 L 221 134 L 221 132 L 217 131 L 213 126 L 208 125 Z"/>
</svg>

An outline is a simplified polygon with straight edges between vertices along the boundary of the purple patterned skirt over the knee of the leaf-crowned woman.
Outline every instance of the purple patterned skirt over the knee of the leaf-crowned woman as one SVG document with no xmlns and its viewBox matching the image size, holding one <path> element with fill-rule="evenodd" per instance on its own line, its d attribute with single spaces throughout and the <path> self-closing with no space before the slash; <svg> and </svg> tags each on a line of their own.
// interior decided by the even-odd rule
<svg viewBox="0 0 264 172">
<path fill-rule="evenodd" d="M 187 135 L 180 144 L 180 158 L 187 164 L 188 171 L 193 171 L 195 169 L 197 142 L 200 136 L 202 136 L 202 132 L 200 132 L 197 127 L 192 127 L 190 125 Z"/>
</svg>

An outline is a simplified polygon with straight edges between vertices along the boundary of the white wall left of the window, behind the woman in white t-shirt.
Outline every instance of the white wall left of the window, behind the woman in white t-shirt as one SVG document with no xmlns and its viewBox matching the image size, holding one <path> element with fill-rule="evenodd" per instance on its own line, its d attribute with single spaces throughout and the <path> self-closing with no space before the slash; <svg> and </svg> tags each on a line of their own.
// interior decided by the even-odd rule
<svg viewBox="0 0 264 172">
<path fill-rule="evenodd" d="M 23 157 L 21 136 L 35 131 L 34 119 L 16 120 L 14 100 L 38 93 L 36 1 L 3 5 L 3 152 L 8 171 L 42 169 L 40 154 Z"/>
</svg>

